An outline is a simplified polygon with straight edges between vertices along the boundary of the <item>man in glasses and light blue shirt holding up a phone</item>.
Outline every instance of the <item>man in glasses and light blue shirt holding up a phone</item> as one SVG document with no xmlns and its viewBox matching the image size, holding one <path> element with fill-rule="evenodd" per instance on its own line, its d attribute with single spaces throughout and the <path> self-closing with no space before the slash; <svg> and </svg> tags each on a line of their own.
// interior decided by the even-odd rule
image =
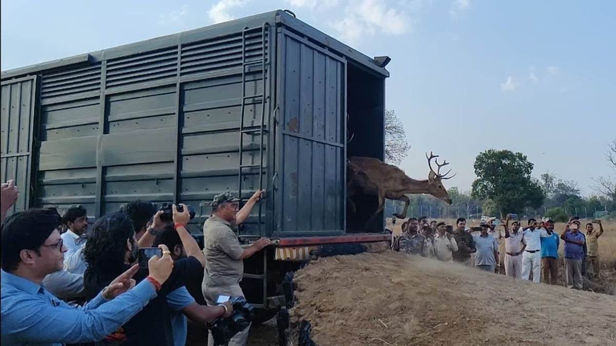
<svg viewBox="0 0 616 346">
<path fill-rule="evenodd" d="M 137 265 L 118 276 L 94 299 L 73 308 L 49 293 L 43 278 L 63 267 L 63 246 L 55 209 L 30 209 L 2 224 L 2 345 L 60 345 L 102 340 L 156 297 L 171 274 L 169 250 L 153 257 L 150 276 L 135 286 Z"/>
</svg>

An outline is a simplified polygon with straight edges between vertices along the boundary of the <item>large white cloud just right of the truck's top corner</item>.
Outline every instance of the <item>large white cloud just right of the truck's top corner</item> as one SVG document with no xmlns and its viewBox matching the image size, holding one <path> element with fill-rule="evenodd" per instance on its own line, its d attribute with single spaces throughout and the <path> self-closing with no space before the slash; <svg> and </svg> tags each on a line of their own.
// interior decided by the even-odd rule
<svg viewBox="0 0 616 346">
<path fill-rule="evenodd" d="M 410 19 L 405 12 L 385 6 L 383 1 L 362 0 L 359 4 L 350 1 L 344 9 L 344 17 L 331 26 L 343 41 L 354 43 L 377 33 L 406 33 L 410 29 Z"/>
</svg>

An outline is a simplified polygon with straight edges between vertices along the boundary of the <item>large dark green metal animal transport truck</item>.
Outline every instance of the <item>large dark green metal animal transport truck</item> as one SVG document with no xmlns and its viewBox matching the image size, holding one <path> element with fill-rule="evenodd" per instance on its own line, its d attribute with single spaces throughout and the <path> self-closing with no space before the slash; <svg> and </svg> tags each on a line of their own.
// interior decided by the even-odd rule
<svg viewBox="0 0 616 346">
<path fill-rule="evenodd" d="M 242 281 L 265 320 L 302 262 L 390 238 L 382 213 L 364 224 L 375 197 L 349 211 L 346 196 L 347 158 L 384 156 L 389 60 L 275 10 L 2 71 L 9 214 L 79 204 L 94 222 L 137 199 L 185 203 L 202 245 L 214 195 L 265 190 L 237 230 L 276 239 Z"/>
</svg>

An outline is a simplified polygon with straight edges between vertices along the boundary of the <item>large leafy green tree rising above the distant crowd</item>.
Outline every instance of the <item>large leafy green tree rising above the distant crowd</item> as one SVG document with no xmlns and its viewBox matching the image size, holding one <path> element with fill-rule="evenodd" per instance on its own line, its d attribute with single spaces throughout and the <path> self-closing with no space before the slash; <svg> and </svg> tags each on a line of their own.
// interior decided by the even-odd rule
<svg viewBox="0 0 616 346">
<path fill-rule="evenodd" d="M 477 155 L 474 169 L 472 196 L 492 199 L 501 216 L 525 206 L 540 207 L 545 199 L 539 182 L 530 176 L 533 164 L 522 153 L 490 149 Z"/>
</svg>

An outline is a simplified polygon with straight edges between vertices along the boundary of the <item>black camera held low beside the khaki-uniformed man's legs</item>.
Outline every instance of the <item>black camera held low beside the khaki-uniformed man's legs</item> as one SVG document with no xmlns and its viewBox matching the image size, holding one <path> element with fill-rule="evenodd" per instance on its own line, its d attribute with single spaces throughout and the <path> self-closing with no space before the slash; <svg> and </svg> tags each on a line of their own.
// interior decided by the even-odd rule
<svg viewBox="0 0 616 346">
<path fill-rule="evenodd" d="M 244 297 L 221 298 L 223 296 L 219 297 L 216 302 L 230 302 L 233 305 L 233 313 L 227 318 L 219 317 L 208 323 L 208 328 L 214 338 L 214 345 L 226 345 L 235 334 L 248 328 L 254 318 L 254 307 Z"/>
</svg>

